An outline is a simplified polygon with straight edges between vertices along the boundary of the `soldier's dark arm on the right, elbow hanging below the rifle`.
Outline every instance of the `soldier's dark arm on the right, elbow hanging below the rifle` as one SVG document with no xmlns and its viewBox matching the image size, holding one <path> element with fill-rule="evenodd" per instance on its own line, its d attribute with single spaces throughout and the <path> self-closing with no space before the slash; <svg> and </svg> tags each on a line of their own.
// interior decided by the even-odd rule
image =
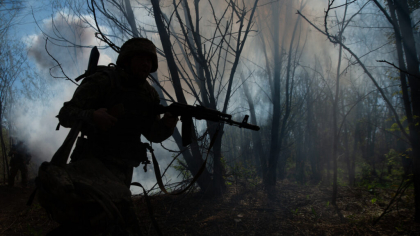
<svg viewBox="0 0 420 236">
<path fill-rule="evenodd" d="M 153 88 L 152 88 L 152 95 L 154 97 L 155 104 L 159 104 L 160 103 L 159 95 L 156 92 L 156 90 L 154 90 Z M 167 118 L 168 115 L 165 115 L 165 116 Z M 175 125 L 173 125 L 173 127 L 170 127 L 171 125 L 168 126 L 168 122 L 165 121 L 166 118 L 161 119 L 160 115 L 157 115 L 155 119 L 152 120 L 150 126 L 148 126 L 150 127 L 150 129 L 146 130 L 146 132 L 143 133 L 143 135 L 147 138 L 147 140 L 154 143 L 160 143 L 160 142 L 163 142 L 165 139 L 171 137 L 171 135 L 174 133 Z M 175 119 L 177 118 L 175 117 Z"/>
</svg>

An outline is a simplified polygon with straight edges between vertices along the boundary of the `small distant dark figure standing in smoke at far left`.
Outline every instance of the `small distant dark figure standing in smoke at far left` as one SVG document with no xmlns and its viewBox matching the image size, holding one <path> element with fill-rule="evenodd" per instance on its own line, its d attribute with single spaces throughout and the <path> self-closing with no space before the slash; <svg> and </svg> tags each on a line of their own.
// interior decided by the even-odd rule
<svg viewBox="0 0 420 236">
<path fill-rule="evenodd" d="M 14 187 L 15 178 L 20 171 L 22 176 L 22 186 L 27 187 L 28 185 L 28 164 L 31 161 L 31 155 L 26 149 L 24 143 L 19 141 L 17 144 L 12 145 L 12 149 L 9 152 L 10 159 L 10 176 L 9 186 Z"/>
</svg>

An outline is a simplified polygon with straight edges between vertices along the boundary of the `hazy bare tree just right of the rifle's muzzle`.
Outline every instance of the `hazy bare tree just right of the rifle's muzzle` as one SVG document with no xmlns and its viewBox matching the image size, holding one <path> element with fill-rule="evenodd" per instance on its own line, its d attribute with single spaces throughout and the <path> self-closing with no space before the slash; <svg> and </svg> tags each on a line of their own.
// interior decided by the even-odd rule
<svg viewBox="0 0 420 236">
<path fill-rule="evenodd" d="M 267 53 L 267 46 L 265 41 L 266 38 L 261 38 L 263 51 L 266 60 L 266 71 L 270 84 L 270 100 L 272 102 L 272 118 L 271 118 L 271 144 L 269 146 L 268 159 L 265 163 L 265 166 L 262 168 L 264 177 L 264 184 L 267 187 L 267 190 L 270 191 L 276 185 L 277 181 L 277 168 L 279 168 L 280 178 L 285 177 L 285 164 L 286 164 L 286 155 L 282 155 L 281 148 L 283 142 L 285 142 L 286 137 L 288 136 L 288 130 L 290 128 L 290 118 L 291 112 L 294 109 L 293 101 L 293 90 L 294 90 L 294 76 L 295 70 L 300 60 L 299 50 L 302 48 L 299 46 L 301 31 L 298 31 L 300 20 L 293 19 L 291 15 L 288 15 L 288 11 L 284 4 L 290 3 L 288 1 L 276 1 L 272 3 L 271 7 L 271 21 L 272 21 L 272 34 L 271 42 L 273 48 L 273 59 L 272 63 Z M 303 9 L 305 2 L 300 2 L 300 9 Z M 285 11 L 286 17 L 280 19 L 280 12 Z M 262 14 L 260 12 L 260 14 Z M 260 19 L 266 18 L 266 16 L 261 16 Z M 283 25 L 280 22 L 285 22 Z M 286 39 L 290 28 L 290 22 L 294 21 L 294 28 L 291 31 L 291 38 L 289 42 L 288 50 L 285 49 Z M 262 23 L 262 22 L 261 22 Z M 261 25 L 260 23 L 260 25 Z M 282 38 L 280 39 L 280 30 L 283 27 Z M 262 37 L 262 36 L 261 36 Z M 285 63 L 285 64 L 284 64 Z M 271 77 L 272 76 L 272 77 Z M 284 81 L 284 82 L 283 82 Z M 281 89 L 282 82 L 284 83 L 284 90 Z M 285 93 L 284 102 L 281 103 L 283 99 L 281 94 Z M 264 162 L 264 160 L 262 160 Z"/>
</svg>

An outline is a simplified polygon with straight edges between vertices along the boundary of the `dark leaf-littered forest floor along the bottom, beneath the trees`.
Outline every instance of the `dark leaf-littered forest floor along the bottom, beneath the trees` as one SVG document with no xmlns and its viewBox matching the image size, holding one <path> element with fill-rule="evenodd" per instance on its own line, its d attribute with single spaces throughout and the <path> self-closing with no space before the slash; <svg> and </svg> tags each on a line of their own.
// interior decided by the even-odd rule
<svg viewBox="0 0 420 236">
<path fill-rule="evenodd" d="M 45 235 L 57 224 L 35 201 L 27 207 L 30 188 L 0 186 L 0 235 Z M 163 235 L 420 235 L 413 222 L 413 190 L 378 224 L 395 190 L 339 187 L 337 206 L 330 204 L 331 187 L 300 186 L 283 181 L 276 197 L 260 187 L 229 186 L 223 198 L 199 193 L 151 196 Z M 133 196 L 144 235 L 157 235 L 143 196 Z"/>
</svg>

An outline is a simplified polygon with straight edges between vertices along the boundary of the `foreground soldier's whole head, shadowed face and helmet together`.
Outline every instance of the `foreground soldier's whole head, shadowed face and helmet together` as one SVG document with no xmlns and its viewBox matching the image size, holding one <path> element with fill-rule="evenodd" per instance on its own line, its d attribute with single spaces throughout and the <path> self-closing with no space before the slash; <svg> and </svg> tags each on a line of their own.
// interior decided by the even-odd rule
<svg viewBox="0 0 420 236">
<path fill-rule="evenodd" d="M 146 38 L 129 39 L 121 46 L 117 65 L 144 81 L 158 68 L 156 46 Z"/>
</svg>

